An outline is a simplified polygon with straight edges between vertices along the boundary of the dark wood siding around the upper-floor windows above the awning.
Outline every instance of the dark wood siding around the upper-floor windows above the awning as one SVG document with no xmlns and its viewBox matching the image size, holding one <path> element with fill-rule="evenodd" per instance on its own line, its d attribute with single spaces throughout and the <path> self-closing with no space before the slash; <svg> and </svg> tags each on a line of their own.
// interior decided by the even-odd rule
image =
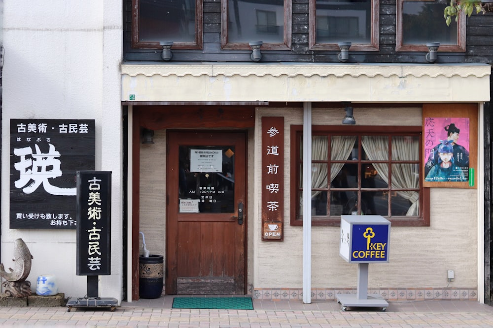
<svg viewBox="0 0 493 328">
<path fill-rule="evenodd" d="M 155 49 L 132 49 L 132 1 L 124 0 L 124 60 L 162 61 Z M 427 63 L 425 52 L 395 51 L 395 0 L 380 2 L 380 50 L 377 52 L 351 51 L 350 62 L 409 62 Z M 339 62 L 338 51 L 311 51 L 308 48 L 308 0 L 292 2 L 292 46 L 290 50 L 262 50 L 261 62 Z M 445 20 L 444 20 L 445 24 Z M 201 50 L 173 50 L 173 61 L 250 61 L 248 50 L 221 50 L 221 2 L 204 0 Z M 439 53 L 436 63 L 493 61 L 493 13 L 473 14 L 466 21 L 466 51 Z"/>
</svg>

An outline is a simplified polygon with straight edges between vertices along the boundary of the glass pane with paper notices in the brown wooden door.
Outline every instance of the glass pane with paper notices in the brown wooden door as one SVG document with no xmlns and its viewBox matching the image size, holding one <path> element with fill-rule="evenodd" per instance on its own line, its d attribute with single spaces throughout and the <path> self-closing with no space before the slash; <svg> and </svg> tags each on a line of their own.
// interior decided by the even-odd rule
<svg viewBox="0 0 493 328">
<path fill-rule="evenodd" d="M 234 146 L 179 146 L 180 213 L 235 211 Z"/>
</svg>

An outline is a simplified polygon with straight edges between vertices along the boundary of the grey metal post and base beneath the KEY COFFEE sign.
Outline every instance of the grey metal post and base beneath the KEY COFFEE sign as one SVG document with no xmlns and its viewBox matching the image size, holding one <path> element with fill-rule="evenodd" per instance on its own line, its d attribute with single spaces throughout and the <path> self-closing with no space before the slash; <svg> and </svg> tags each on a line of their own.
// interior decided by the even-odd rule
<svg viewBox="0 0 493 328">
<path fill-rule="evenodd" d="M 358 286 L 356 294 L 337 294 L 341 309 L 347 307 L 382 307 L 387 309 L 388 303 L 380 294 L 368 294 L 368 263 L 358 263 Z"/>
</svg>

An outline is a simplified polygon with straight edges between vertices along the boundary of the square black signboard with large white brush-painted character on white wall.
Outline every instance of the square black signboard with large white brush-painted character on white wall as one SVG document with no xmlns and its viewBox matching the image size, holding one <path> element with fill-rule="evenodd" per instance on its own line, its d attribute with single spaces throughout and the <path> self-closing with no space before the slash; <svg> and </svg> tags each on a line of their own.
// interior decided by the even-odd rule
<svg viewBox="0 0 493 328">
<path fill-rule="evenodd" d="M 95 169 L 94 119 L 10 120 L 10 229 L 75 229 L 75 174 Z"/>
</svg>

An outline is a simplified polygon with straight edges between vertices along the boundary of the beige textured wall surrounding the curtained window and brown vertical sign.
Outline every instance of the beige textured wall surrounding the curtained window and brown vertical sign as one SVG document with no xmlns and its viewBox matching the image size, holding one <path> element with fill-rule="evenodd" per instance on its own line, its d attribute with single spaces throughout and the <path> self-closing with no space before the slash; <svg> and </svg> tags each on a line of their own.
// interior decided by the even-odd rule
<svg viewBox="0 0 493 328">
<path fill-rule="evenodd" d="M 301 288 L 303 228 L 289 225 L 290 125 L 303 124 L 302 110 L 259 109 L 255 132 L 255 176 L 260 181 L 262 116 L 284 116 L 284 241 L 261 240 L 261 188 L 255 187 L 254 288 Z M 344 111 L 313 109 L 313 124 L 341 125 Z M 358 125 L 422 125 L 421 108 L 355 108 Z M 449 287 L 477 287 L 477 190 L 431 189 L 430 227 L 393 227 L 388 264 L 369 266 L 369 288 L 445 288 L 446 272 L 455 271 Z M 250 216 L 251 219 L 251 216 Z M 312 227 L 312 287 L 355 288 L 357 265 L 339 256 L 339 227 Z"/>
</svg>

